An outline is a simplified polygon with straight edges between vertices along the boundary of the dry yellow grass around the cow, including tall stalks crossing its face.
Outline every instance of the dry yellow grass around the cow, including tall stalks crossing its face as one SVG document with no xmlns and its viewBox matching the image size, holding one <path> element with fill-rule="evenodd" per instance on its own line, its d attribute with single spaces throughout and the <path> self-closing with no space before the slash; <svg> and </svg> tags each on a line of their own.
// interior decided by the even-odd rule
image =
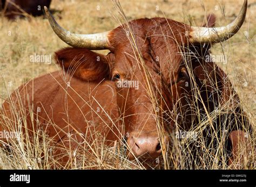
<svg viewBox="0 0 256 187">
<path fill-rule="evenodd" d="M 248 4 L 253 3 L 249 1 Z M 79 5 L 78 5 L 79 4 Z M 167 17 L 184 23 L 190 20 L 195 21 L 193 25 L 201 25 L 205 15 L 214 13 L 217 16 L 217 26 L 230 23 L 240 10 L 242 2 L 225 1 L 225 16 L 222 13 L 222 1 L 120 1 L 125 12 L 127 20 L 136 18 L 152 18 Z M 201 6 L 204 4 L 204 9 Z M 124 23 L 124 16 L 120 16 L 114 8 L 113 3 L 109 1 L 57 1 L 53 0 L 51 9 L 58 10 L 55 17 L 58 23 L 64 28 L 77 33 L 93 33 L 112 30 L 119 26 L 119 22 Z M 97 10 L 99 9 L 99 10 Z M 205 11 L 204 11 L 205 10 Z M 61 12 L 60 12 L 61 11 Z M 164 15 L 163 15 L 164 13 Z M 114 19 L 114 18 L 115 19 Z M 116 19 L 117 18 L 117 19 Z M 19 85 L 27 82 L 33 77 L 55 71 L 57 66 L 52 60 L 51 64 L 31 63 L 30 55 L 36 53 L 41 55 L 52 55 L 53 52 L 65 47 L 66 44 L 53 34 L 48 21 L 42 17 L 32 18 L 28 20 L 18 20 L 10 22 L 5 18 L 0 18 L 1 27 L 1 44 L 0 44 L 0 74 L 2 79 L 1 98 L 2 105 L 4 98 L 14 91 Z M 118 21 L 119 20 L 119 21 Z M 227 63 L 219 63 L 218 65 L 228 74 L 234 89 L 238 92 L 244 110 L 255 126 L 255 60 L 256 60 L 256 14 L 255 5 L 247 10 L 246 21 L 242 25 L 238 34 L 232 39 L 217 44 L 212 47 L 212 54 L 227 56 Z M 245 35 L 247 31 L 247 35 Z M 131 39 L 131 43 L 132 43 Z M 107 51 L 101 53 L 106 54 Z M 139 51 L 136 52 L 139 54 Z M 135 55 L 135 54 L 134 54 Z M 143 60 L 138 60 L 143 64 Z M 147 70 L 145 69 L 145 73 Z M 150 80 L 150 76 L 149 76 Z M 150 81 L 148 81 L 150 82 Z M 148 85 L 150 93 L 150 84 Z M 196 95 L 196 91 L 195 91 Z M 152 96 L 152 100 L 154 97 Z M 152 102 L 154 103 L 154 102 Z M 15 107 L 13 107 L 15 110 Z M 15 111 L 14 111 L 15 112 Z M 214 113 L 215 112 L 215 113 Z M 219 113 L 232 113 L 227 107 L 218 109 L 209 114 L 207 118 L 200 121 L 196 129 L 191 131 L 198 132 L 198 145 L 202 146 L 201 157 L 198 160 L 197 169 L 227 169 L 224 164 L 224 156 L 221 151 L 212 154 L 214 151 L 208 147 L 204 147 L 203 129 L 209 125 L 209 119 L 214 119 Z M 17 119 L 23 117 L 17 114 Z M 25 120 L 23 120 L 25 121 Z M 6 125 L 11 125 L 9 119 L 5 119 Z M 159 136 L 161 137 L 161 123 L 159 125 Z M 21 129 L 15 129 L 21 132 Z M 178 129 L 177 129 L 178 130 Z M 221 132 L 225 135 L 224 132 Z M 144 166 L 139 161 L 131 162 L 123 156 L 123 146 L 117 144 L 114 148 L 104 146 L 104 138 L 99 137 L 95 146 L 86 145 L 84 149 L 77 153 L 69 153 L 71 159 L 66 166 L 60 166 L 51 155 L 52 142 L 45 136 L 43 131 L 36 132 L 32 141 L 28 141 L 28 136 L 18 133 L 19 139 L 12 142 L 13 147 L 10 149 L 0 149 L 0 167 L 3 169 L 143 169 Z M 22 141 L 23 140 L 23 141 Z M 176 140 L 176 141 L 175 141 Z M 25 143 L 22 143 L 25 142 Z M 255 137 L 251 139 L 254 146 Z M 191 150 L 188 145 L 193 143 L 192 140 L 177 141 L 174 139 L 174 149 L 166 150 L 163 161 L 160 160 L 154 168 L 165 169 L 190 169 L 191 160 L 185 153 L 190 154 Z M 89 146 L 89 147 L 88 147 Z M 216 150 L 223 148 L 224 142 L 218 145 Z M 88 149 L 93 149 L 88 152 Z M 254 150 L 253 150 L 254 151 Z M 173 153 L 171 153 L 173 152 Z M 245 155 L 245 147 L 241 147 L 241 154 Z M 42 159 L 42 154 L 44 154 Z M 76 155 L 76 156 L 72 156 Z M 253 162 L 255 160 L 254 152 L 246 155 L 246 161 L 236 168 L 254 169 Z M 219 164 L 221 163 L 221 164 Z M 237 162 L 239 163 L 239 161 Z"/>
</svg>

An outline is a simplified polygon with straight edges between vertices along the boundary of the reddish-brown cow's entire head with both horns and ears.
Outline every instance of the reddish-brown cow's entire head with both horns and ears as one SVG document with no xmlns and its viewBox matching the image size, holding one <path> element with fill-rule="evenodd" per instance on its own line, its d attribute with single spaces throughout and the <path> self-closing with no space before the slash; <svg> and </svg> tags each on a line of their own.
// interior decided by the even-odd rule
<svg viewBox="0 0 256 187">
<path fill-rule="evenodd" d="M 166 18 L 145 18 L 97 34 L 70 33 L 47 9 L 45 12 L 53 31 L 73 47 L 56 52 L 57 62 L 64 69 L 72 69 L 75 77 L 85 81 L 116 82 L 132 159 L 159 156 L 177 125 L 184 130 L 192 125 L 191 104 L 203 105 L 211 97 L 214 100 L 211 78 L 221 84 L 224 74 L 206 61 L 209 46 L 237 33 L 246 6 L 247 1 L 238 17 L 222 27 L 193 27 Z M 102 55 L 92 49 L 109 49 L 110 53 Z M 194 100 L 192 82 L 209 95 Z M 211 104 L 207 102 L 204 109 L 210 110 Z"/>
</svg>

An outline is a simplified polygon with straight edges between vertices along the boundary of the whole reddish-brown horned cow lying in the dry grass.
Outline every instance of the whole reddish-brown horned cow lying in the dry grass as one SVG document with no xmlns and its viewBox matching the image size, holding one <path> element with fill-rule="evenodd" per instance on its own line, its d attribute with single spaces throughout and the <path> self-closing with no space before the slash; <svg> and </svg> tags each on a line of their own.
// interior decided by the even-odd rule
<svg viewBox="0 0 256 187">
<path fill-rule="evenodd" d="M 173 147 L 177 128 L 188 132 L 206 117 L 206 145 L 217 145 L 214 136 L 221 137 L 232 164 L 252 127 L 227 75 L 208 56 L 212 44 L 238 32 L 246 0 L 227 26 L 213 27 L 214 16 L 205 27 L 143 18 L 95 34 L 67 31 L 44 9 L 53 31 L 71 47 L 55 52 L 59 71 L 29 81 L 6 100 L 0 130 L 10 131 L 6 119 L 17 121 L 23 113 L 23 131 L 32 136 L 42 128 L 62 150 L 83 149 L 100 136 L 109 146 L 124 142 L 129 160 L 146 161 Z M 101 49 L 110 52 L 92 51 Z M 228 112 L 212 118 L 221 107 Z M 198 156 L 198 145 L 190 146 Z M 65 163 L 70 157 L 62 150 L 55 156 Z"/>
</svg>

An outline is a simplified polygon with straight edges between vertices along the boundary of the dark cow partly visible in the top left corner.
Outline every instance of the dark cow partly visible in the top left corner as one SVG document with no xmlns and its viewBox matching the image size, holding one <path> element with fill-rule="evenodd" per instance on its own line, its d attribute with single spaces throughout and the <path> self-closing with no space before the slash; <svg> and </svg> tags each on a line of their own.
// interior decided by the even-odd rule
<svg viewBox="0 0 256 187">
<path fill-rule="evenodd" d="M 50 7 L 51 0 L 2 0 L 4 16 L 10 20 L 26 15 L 41 16 L 43 7 Z"/>
</svg>

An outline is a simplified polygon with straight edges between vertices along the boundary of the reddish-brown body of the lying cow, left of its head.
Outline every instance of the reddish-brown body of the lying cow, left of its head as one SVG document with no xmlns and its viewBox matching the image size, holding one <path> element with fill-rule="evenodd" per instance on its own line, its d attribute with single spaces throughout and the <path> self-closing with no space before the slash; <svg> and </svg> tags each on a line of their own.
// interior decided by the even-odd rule
<svg viewBox="0 0 256 187">
<path fill-rule="evenodd" d="M 116 140 L 116 135 L 120 135 L 116 128 L 119 112 L 114 84 L 81 81 L 59 71 L 19 87 L 4 102 L 2 114 L 5 120 L 12 121 L 8 126 L 17 126 L 18 121 L 25 119 L 23 130 L 27 126 L 32 135 L 42 128 L 56 142 L 70 136 L 77 142 L 84 137 L 90 141 L 97 135 Z M 3 118 L 0 128 L 10 131 Z"/>
</svg>

